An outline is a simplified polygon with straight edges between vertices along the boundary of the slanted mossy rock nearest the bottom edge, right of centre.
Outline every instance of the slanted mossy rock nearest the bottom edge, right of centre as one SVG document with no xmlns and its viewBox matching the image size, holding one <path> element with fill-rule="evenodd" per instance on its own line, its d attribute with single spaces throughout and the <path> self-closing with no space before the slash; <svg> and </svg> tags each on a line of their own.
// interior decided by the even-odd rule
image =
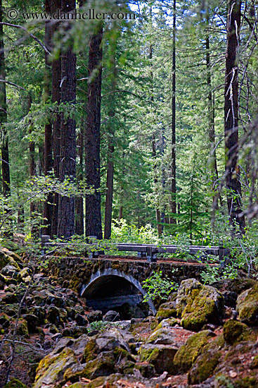
<svg viewBox="0 0 258 388">
<path fill-rule="evenodd" d="M 199 384 L 207 380 L 217 367 L 221 352 L 215 349 L 207 349 L 203 351 L 188 373 L 188 384 Z"/>
</svg>

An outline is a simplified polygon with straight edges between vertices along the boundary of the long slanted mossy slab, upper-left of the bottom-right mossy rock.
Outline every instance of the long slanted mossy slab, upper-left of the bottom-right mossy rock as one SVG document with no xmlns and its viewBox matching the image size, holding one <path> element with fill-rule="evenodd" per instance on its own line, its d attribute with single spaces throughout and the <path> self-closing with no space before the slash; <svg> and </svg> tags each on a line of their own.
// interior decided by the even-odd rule
<svg viewBox="0 0 258 388">
<path fill-rule="evenodd" d="M 215 334 L 211 330 L 193 334 L 186 344 L 179 348 L 174 356 L 174 367 L 178 373 L 185 373 L 190 370 L 196 358 L 200 355 L 202 348 L 207 345 L 208 340 L 214 337 Z"/>
</svg>

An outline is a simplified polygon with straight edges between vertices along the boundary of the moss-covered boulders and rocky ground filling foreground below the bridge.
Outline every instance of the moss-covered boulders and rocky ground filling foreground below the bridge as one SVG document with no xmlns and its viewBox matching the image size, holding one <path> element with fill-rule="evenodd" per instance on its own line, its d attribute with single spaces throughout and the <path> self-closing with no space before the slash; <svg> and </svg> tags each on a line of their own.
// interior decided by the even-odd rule
<svg viewBox="0 0 258 388">
<path fill-rule="evenodd" d="M 0 387 L 258 387 L 256 281 L 186 279 L 155 317 L 103 317 L 33 270 L 1 248 Z"/>
</svg>

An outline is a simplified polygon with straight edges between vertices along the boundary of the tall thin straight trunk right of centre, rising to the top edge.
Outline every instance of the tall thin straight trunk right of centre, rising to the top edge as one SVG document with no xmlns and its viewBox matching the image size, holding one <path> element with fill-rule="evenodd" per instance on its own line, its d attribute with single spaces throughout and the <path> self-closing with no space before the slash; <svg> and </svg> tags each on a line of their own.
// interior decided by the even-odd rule
<svg viewBox="0 0 258 388">
<path fill-rule="evenodd" d="M 172 155 L 171 155 L 171 211 L 176 214 L 176 0 L 174 0 L 173 16 L 173 54 L 172 54 Z M 171 224 L 176 224 L 176 219 L 171 217 Z"/>
</svg>

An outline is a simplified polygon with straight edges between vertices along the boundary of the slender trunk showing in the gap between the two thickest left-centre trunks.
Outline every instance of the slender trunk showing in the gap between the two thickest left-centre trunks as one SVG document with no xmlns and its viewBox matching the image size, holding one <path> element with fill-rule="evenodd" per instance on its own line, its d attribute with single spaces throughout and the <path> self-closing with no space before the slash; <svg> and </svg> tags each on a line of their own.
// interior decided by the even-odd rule
<svg viewBox="0 0 258 388">
<path fill-rule="evenodd" d="M 84 133 L 83 129 L 81 129 L 81 133 L 79 134 L 79 171 L 77 175 L 78 181 L 82 181 L 83 178 L 83 155 L 84 155 Z M 79 236 L 84 235 L 84 204 L 83 198 L 77 197 L 75 201 L 75 233 Z"/>
</svg>

